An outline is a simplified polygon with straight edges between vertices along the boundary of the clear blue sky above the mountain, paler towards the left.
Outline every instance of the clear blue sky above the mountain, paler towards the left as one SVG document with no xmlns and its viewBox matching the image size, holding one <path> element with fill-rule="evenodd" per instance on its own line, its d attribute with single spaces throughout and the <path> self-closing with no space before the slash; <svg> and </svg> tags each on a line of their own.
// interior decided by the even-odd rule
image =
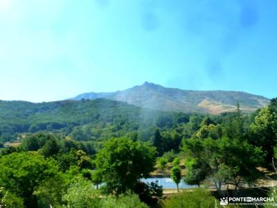
<svg viewBox="0 0 277 208">
<path fill-rule="evenodd" d="M 0 99 L 145 81 L 277 96 L 277 1 L 0 0 Z"/>
</svg>

